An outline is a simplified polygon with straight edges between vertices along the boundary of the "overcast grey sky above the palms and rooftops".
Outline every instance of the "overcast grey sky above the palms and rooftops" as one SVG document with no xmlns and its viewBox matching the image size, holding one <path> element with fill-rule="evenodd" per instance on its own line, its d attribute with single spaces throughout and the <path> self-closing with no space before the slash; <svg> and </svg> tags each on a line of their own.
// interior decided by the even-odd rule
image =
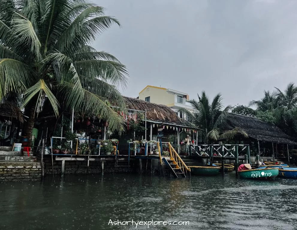
<svg viewBox="0 0 297 230">
<path fill-rule="evenodd" d="M 247 105 L 296 81 L 297 1 L 93 0 L 115 16 L 94 43 L 129 69 L 125 96 L 146 85 Z"/>
</svg>

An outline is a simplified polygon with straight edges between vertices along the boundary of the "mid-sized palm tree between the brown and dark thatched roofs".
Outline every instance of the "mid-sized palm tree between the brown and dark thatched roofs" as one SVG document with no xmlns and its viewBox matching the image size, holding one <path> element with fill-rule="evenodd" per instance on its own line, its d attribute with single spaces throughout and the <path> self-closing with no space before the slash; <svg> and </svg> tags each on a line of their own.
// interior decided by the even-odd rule
<svg viewBox="0 0 297 230">
<path fill-rule="evenodd" d="M 242 134 L 245 137 L 248 137 L 244 131 L 237 127 L 221 133 L 220 128 L 225 124 L 229 112 L 232 109 L 230 105 L 225 108 L 223 107 L 221 93 L 218 93 L 210 103 L 205 91 L 202 91 L 201 96 L 198 94 L 198 101 L 192 99 L 189 103 L 192 105 L 193 111 L 191 112 L 187 109 L 181 109 L 180 112 L 186 114 L 189 122 L 202 129 L 200 134 L 203 136 L 206 144 L 208 143 L 209 138 L 213 140 L 217 140 L 220 137 L 232 139 L 236 134 Z"/>
</svg>

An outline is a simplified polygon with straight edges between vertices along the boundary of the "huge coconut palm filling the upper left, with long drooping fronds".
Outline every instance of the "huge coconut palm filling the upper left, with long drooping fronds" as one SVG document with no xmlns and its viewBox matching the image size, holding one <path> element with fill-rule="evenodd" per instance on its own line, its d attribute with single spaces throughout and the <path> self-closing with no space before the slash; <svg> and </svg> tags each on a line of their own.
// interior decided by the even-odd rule
<svg viewBox="0 0 297 230">
<path fill-rule="evenodd" d="M 123 119 L 110 106 L 124 108 L 117 86 L 126 87 L 126 67 L 113 55 L 90 44 L 113 23 L 104 8 L 85 0 L 5 0 L 0 6 L 0 100 L 7 93 L 24 95 L 31 136 L 45 101 L 59 109 L 106 119 L 123 130 Z"/>
</svg>

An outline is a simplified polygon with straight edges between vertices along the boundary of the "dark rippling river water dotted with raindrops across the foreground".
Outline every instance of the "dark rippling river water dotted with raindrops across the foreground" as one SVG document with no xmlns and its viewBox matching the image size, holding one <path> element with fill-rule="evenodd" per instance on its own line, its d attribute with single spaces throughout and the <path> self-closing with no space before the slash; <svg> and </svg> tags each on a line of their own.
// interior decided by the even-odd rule
<svg viewBox="0 0 297 230">
<path fill-rule="evenodd" d="M 2 182 L 0 229 L 135 229 L 135 223 L 124 222 L 132 219 L 160 221 L 149 229 L 297 229 L 296 189 L 295 179 L 242 180 L 234 173 L 182 179 L 65 175 Z M 111 225 L 117 220 L 124 225 Z M 161 221 L 189 222 L 173 226 Z M 147 228 L 145 223 L 137 226 Z"/>
</svg>

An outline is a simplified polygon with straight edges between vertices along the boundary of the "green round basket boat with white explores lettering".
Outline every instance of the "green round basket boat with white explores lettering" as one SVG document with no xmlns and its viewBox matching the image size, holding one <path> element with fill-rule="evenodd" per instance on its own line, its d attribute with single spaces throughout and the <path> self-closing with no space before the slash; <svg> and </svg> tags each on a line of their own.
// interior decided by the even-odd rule
<svg viewBox="0 0 297 230">
<path fill-rule="evenodd" d="M 238 171 L 240 178 L 268 180 L 278 176 L 278 168 L 261 168 Z"/>
</svg>

